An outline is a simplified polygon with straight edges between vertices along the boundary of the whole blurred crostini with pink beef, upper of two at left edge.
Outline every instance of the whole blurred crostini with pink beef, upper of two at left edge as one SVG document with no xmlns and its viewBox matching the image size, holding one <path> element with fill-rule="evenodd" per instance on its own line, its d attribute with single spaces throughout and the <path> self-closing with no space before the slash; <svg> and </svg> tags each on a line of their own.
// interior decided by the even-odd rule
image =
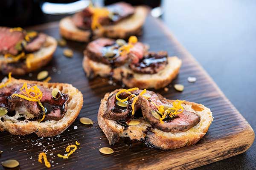
<svg viewBox="0 0 256 170">
<path fill-rule="evenodd" d="M 24 75 L 47 65 L 57 41 L 44 33 L 0 27 L 0 71 Z"/>
</svg>

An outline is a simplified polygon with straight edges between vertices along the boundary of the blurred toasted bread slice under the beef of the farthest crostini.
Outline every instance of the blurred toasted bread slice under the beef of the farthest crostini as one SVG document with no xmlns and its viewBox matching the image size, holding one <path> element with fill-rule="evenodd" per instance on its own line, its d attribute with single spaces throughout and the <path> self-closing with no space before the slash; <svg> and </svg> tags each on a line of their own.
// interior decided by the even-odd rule
<svg viewBox="0 0 256 170">
<path fill-rule="evenodd" d="M 148 8 L 137 6 L 135 13 L 131 17 L 125 18 L 111 26 L 103 26 L 101 30 L 94 30 L 93 38 L 110 37 L 125 39 L 131 35 L 137 35 L 141 31 L 140 29 L 143 26 L 147 14 Z M 63 18 L 59 23 L 59 28 L 60 34 L 68 40 L 89 42 L 92 36 L 91 31 L 77 28 L 71 20 L 71 17 Z"/>
</svg>

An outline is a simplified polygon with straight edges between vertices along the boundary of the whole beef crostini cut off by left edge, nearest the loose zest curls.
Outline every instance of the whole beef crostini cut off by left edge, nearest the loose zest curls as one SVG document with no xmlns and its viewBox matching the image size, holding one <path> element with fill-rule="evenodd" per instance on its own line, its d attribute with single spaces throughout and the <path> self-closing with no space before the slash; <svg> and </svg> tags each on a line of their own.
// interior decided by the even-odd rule
<svg viewBox="0 0 256 170">
<path fill-rule="evenodd" d="M 55 136 L 67 129 L 83 105 L 70 84 L 9 79 L 0 84 L 0 131 Z"/>
</svg>

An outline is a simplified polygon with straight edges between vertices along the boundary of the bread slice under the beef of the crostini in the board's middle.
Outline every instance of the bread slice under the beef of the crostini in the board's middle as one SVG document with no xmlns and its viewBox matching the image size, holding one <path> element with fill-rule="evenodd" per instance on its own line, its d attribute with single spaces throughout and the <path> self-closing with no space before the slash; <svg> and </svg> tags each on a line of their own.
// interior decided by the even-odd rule
<svg viewBox="0 0 256 170">
<path fill-rule="evenodd" d="M 181 59 L 178 57 L 168 57 L 166 67 L 156 74 L 138 74 L 132 71 L 128 64 L 121 67 L 111 68 L 100 62 L 95 62 L 84 56 L 83 68 L 87 77 L 93 78 L 97 75 L 101 77 L 112 76 L 114 79 L 122 81 L 129 88 L 163 88 L 177 76 L 181 66 Z M 132 76 L 131 76 L 132 75 Z"/>
</svg>

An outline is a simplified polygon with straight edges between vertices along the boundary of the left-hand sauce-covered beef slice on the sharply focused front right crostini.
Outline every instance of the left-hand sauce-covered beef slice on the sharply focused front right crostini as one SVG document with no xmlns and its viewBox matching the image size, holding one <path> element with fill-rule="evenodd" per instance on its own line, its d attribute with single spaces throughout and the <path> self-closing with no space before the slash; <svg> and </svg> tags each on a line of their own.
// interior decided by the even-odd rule
<svg viewBox="0 0 256 170">
<path fill-rule="evenodd" d="M 131 93 L 138 95 L 140 94 L 141 91 L 142 90 L 132 91 Z M 111 119 L 115 121 L 127 121 L 128 119 L 131 119 L 133 117 L 131 115 L 132 113 L 131 104 L 134 101 L 134 98 L 128 99 L 127 107 L 120 107 L 119 105 L 117 105 L 118 100 L 116 100 L 116 93 L 109 96 L 108 103 L 107 103 L 108 109 L 103 115 L 103 117 L 106 119 Z M 122 93 L 119 95 L 119 98 L 125 99 L 128 96 L 129 94 Z M 140 108 L 140 105 L 138 105 L 138 101 L 137 101 L 134 105 L 134 112 L 136 112 L 139 108 Z"/>
</svg>

